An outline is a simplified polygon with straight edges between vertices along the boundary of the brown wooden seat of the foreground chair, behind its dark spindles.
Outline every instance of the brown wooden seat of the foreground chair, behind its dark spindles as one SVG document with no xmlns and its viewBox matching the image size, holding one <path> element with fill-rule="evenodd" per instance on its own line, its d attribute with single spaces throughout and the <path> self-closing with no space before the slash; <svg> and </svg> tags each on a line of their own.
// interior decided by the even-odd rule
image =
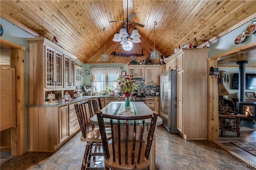
<svg viewBox="0 0 256 170">
<path fill-rule="evenodd" d="M 140 154 L 140 164 L 137 164 L 137 160 L 138 160 L 138 150 L 139 150 L 139 145 L 140 142 L 136 142 L 135 144 L 135 156 L 134 156 L 134 165 L 131 164 L 131 158 L 132 158 L 132 142 L 128 142 L 128 165 L 125 165 L 125 142 L 121 142 L 121 159 L 122 159 L 122 164 L 119 165 L 118 163 L 118 154 L 116 151 L 116 162 L 113 162 L 113 157 L 110 156 L 110 158 L 108 160 L 104 160 L 105 165 L 111 169 L 114 170 L 127 170 L 127 169 L 136 169 L 136 170 L 140 170 L 140 169 L 144 169 L 147 168 L 149 166 L 149 160 L 146 160 L 146 158 L 144 157 L 144 152 L 146 150 L 146 144 L 142 143 L 142 149 L 141 149 L 141 154 Z M 118 148 L 118 143 L 115 143 L 115 148 Z M 112 143 L 110 143 L 108 145 L 108 149 L 109 149 L 109 153 L 110 155 L 113 155 L 113 150 L 112 150 Z"/>
</svg>

